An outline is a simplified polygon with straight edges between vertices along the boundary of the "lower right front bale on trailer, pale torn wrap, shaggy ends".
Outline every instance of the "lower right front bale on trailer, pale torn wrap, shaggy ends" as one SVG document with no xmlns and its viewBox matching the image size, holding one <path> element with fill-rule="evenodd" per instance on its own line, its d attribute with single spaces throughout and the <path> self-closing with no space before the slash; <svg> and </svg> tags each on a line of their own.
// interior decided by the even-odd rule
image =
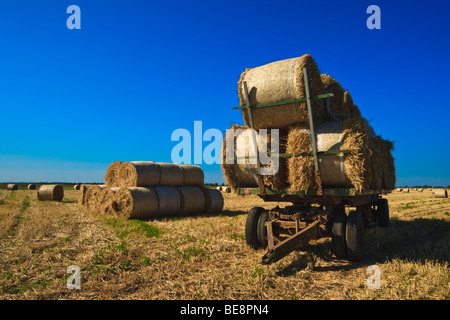
<svg viewBox="0 0 450 320">
<path fill-rule="evenodd" d="M 347 154 L 320 155 L 319 170 L 323 187 L 373 188 L 371 140 L 373 129 L 363 118 L 322 123 L 316 130 L 318 151 L 350 150 Z M 315 187 L 314 158 L 309 129 L 303 124 L 291 127 L 286 153 L 303 154 L 288 159 L 288 179 L 291 191 Z"/>
</svg>

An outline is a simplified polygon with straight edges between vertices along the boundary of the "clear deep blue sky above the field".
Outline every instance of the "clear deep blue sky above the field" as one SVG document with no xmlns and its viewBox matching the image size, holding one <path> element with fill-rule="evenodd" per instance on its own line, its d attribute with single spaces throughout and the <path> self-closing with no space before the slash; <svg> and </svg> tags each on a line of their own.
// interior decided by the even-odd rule
<svg viewBox="0 0 450 320">
<path fill-rule="evenodd" d="M 369 30 L 369 5 L 381 30 Z M 69 5 L 81 30 L 69 30 Z M 0 1 L 0 182 L 171 162 L 177 128 L 242 123 L 241 72 L 310 53 L 395 142 L 398 185 L 450 185 L 450 2 Z M 208 142 L 205 142 L 208 144 Z M 202 165 L 222 182 L 219 165 Z"/>
</svg>

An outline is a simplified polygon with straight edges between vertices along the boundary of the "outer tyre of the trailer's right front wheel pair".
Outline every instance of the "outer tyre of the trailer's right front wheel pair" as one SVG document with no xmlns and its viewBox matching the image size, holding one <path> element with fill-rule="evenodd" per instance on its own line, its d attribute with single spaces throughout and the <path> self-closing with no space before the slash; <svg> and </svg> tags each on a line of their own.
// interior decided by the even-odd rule
<svg viewBox="0 0 450 320">
<path fill-rule="evenodd" d="M 348 259 L 360 261 L 364 255 L 364 217 L 359 211 L 351 211 L 345 230 Z"/>
</svg>

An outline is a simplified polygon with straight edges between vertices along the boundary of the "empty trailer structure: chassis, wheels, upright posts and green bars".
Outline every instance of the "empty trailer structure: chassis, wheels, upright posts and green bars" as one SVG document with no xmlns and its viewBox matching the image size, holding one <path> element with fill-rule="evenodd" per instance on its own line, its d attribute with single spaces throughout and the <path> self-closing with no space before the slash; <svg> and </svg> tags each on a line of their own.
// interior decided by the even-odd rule
<svg viewBox="0 0 450 320">
<path fill-rule="evenodd" d="M 382 194 L 390 190 L 356 190 L 353 188 L 322 188 L 318 155 L 345 154 L 350 150 L 317 150 L 311 99 L 324 99 L 332 93 L 310 96 L 306 68 L 303 69 L 306 98 L 280 101 L 264 105 L 250 105 L 247 83 L 243 82 L 246 106 L 233 109 L 247 110 L 249 125 L 254 129 L 252 109 L 304 102 L 308 107 L 310 139 L 313 151 L 307 154 L 279 154 L 280 157 L 314 157 L 313 189 L 293 192 L 289 189 L 271 190 L 265 187 L 260 175 L 260 161 L 256 133 L 252 130 L 257 163 L 258 188 L 240 188 L 240 195 L 257 194 L 266 202 L 287 202 L 291 205 L 265 210 L 254 207 L 247 216 L 245 238 L 251 247 L 268 248 L 261 263 L 274 263 L 289 253 L 306 249 L 311 241 L 331 237 L 331 250 L 337 258 L 359 261 L 364 255 L 364 229 L 389 225 L 389 205 Z M 328 103 L 328 101 L 327 101 Z M 346 208 L 354 208 L 346 210 Z M 347 214 L 346 211 L 349 211 Z"/>
</svg>

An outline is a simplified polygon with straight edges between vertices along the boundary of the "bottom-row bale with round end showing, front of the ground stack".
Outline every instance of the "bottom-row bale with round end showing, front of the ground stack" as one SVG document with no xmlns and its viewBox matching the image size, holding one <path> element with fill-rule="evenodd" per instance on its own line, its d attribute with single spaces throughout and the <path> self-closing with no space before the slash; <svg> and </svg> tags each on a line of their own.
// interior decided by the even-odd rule
<svg viewBox="0 0 450 320">
<path fill-rule="evenodd" d="M 158 214 L 158 196 L 151 188 L 121 187 L 117 190 L 113 210 L 128 219 L 151 219 Z"/>
</svg>

